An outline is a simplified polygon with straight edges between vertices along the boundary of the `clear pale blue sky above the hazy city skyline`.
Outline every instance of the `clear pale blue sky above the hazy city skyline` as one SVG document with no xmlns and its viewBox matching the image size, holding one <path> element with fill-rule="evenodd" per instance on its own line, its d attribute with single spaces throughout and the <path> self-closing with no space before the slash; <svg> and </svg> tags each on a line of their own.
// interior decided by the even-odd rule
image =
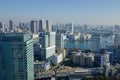
<svg viewBox="0 0 120 80">
<path fill-rule="evenodd" d="M 120 0 L 0 0 L 0 21 L 120 24 Z"/>
</svg>

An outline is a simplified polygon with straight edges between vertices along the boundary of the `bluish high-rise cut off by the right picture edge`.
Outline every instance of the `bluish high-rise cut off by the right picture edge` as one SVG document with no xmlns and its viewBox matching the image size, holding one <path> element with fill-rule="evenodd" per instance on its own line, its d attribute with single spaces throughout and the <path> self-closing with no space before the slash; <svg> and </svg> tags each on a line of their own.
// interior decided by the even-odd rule
<svg viewBox="0 0 120 80">
<path fill-rule="evenodd" d="M 120 63 L 120 35 L 115 35 L 114 45 L 115 45 L 115 56 L 116 56 L 117 62 Z"/>
</svg>

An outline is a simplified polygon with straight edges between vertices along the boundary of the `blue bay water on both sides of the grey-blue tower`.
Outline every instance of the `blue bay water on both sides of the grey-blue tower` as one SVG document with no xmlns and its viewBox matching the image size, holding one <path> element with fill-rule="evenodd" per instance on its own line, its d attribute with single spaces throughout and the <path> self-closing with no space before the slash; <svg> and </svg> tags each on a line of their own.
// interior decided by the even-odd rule
<svg viewBox="0 0 120 80">
<path fill-rule="evenodd" d="M 64 41 L 65 48 L 74 48 L 74 49 L 81 49 L 81 50 L 91 50 L 91 41 Z M 107 49 L 109 46 L 114 45 L 114 39 L 102 39 L 101 40 L 101 48 Z"/>
</svg>

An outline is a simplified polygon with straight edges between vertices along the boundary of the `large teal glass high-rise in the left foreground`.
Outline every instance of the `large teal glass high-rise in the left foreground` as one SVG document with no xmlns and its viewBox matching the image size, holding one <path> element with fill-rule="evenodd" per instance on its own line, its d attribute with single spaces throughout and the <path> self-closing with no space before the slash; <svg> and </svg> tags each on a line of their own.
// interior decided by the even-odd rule
<svg viewBox="0 0 120 80">
<path fill-rule="evenodd" d="M 33 57 L 30 34 L 0 34 L 0 80 L 34 80 Z"/>
</svg>

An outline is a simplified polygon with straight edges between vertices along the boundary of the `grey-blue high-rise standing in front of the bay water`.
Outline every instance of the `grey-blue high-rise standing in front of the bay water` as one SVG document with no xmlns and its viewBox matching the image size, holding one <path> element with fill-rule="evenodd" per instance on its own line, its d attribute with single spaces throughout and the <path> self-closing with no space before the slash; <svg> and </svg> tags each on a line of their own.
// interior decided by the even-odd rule
<svg viewBox="0 0 120 80">
<path fill-rule="evenodd" d="M 93 52 L 100 52 L 101 49 L 101 35 L 100 34 L 92 34 L 91 37 L 91 51 Z"/>
</svg>

